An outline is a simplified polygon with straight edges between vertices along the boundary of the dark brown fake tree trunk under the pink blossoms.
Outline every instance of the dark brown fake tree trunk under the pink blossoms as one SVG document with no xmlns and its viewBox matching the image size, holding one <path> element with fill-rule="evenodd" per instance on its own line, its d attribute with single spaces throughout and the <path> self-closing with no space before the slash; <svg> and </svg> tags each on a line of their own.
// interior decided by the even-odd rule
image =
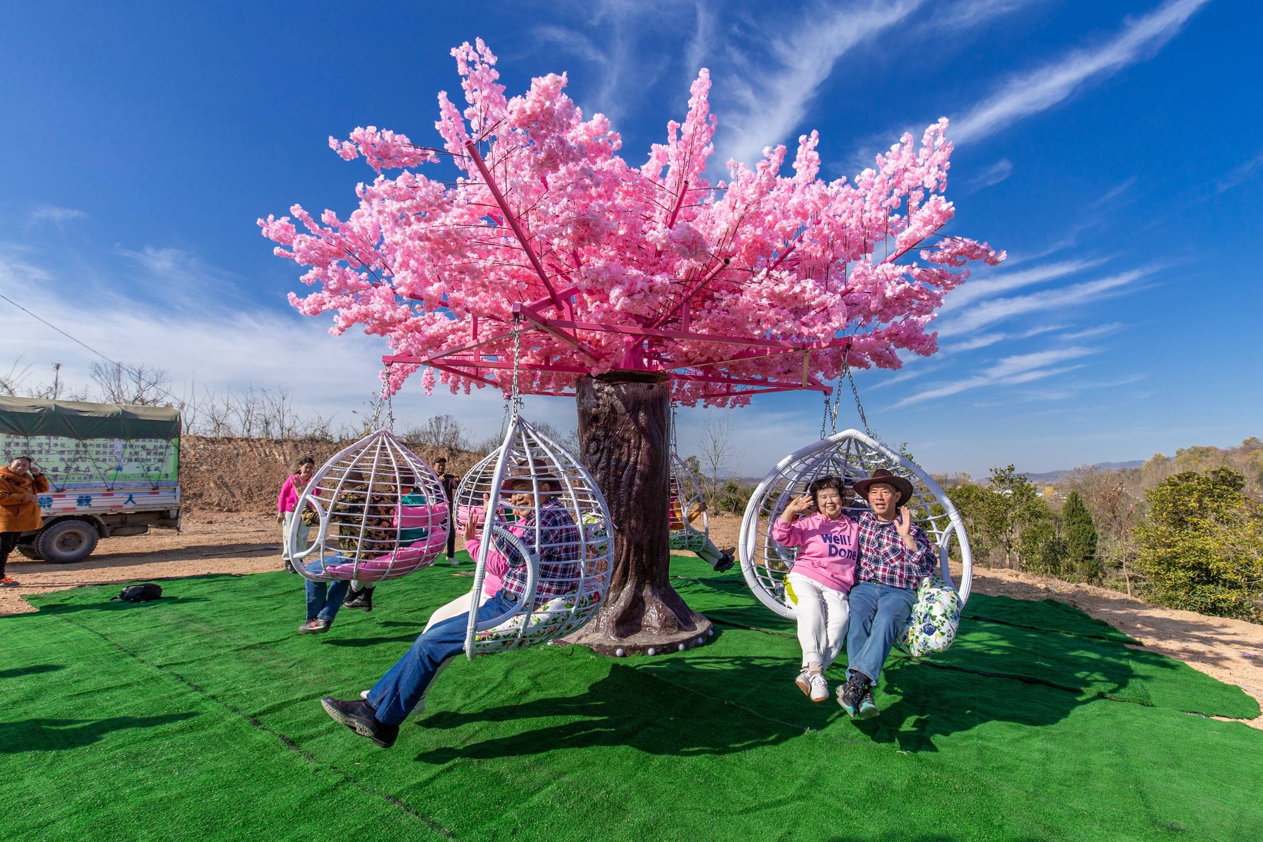
<svg viewBox="0 0 1263 842">
<path fill-rule="evenodd" d="M 568 640 L 602 655 L 690 649 L 711 634 L 668 579 L 669 394 L 662 375 L 643 371 L 578 381 L 580 458 L 610 507 L 614 569 L 605 605 Z"/>
</svg>

